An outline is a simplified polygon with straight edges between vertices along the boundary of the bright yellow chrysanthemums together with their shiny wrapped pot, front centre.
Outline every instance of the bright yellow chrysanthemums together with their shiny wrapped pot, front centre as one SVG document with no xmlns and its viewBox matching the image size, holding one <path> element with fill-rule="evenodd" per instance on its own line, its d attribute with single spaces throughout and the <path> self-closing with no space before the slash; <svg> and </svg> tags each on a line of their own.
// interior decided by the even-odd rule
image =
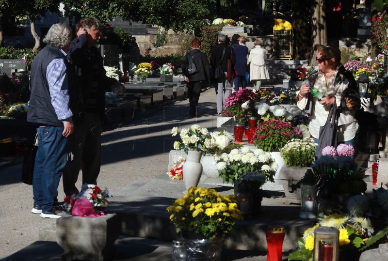
<svg viewBox="0 0 388 261">
<path fill-rule="evenodd" d="M 170 221 L 188 245 L 190 260 L 195 256 L 220 260 L 220 237 L 241 219 L 234 197 L 220 195 L 211 188 L 191 187 L 183 198 L 167 207 Z"/>
</svg>

